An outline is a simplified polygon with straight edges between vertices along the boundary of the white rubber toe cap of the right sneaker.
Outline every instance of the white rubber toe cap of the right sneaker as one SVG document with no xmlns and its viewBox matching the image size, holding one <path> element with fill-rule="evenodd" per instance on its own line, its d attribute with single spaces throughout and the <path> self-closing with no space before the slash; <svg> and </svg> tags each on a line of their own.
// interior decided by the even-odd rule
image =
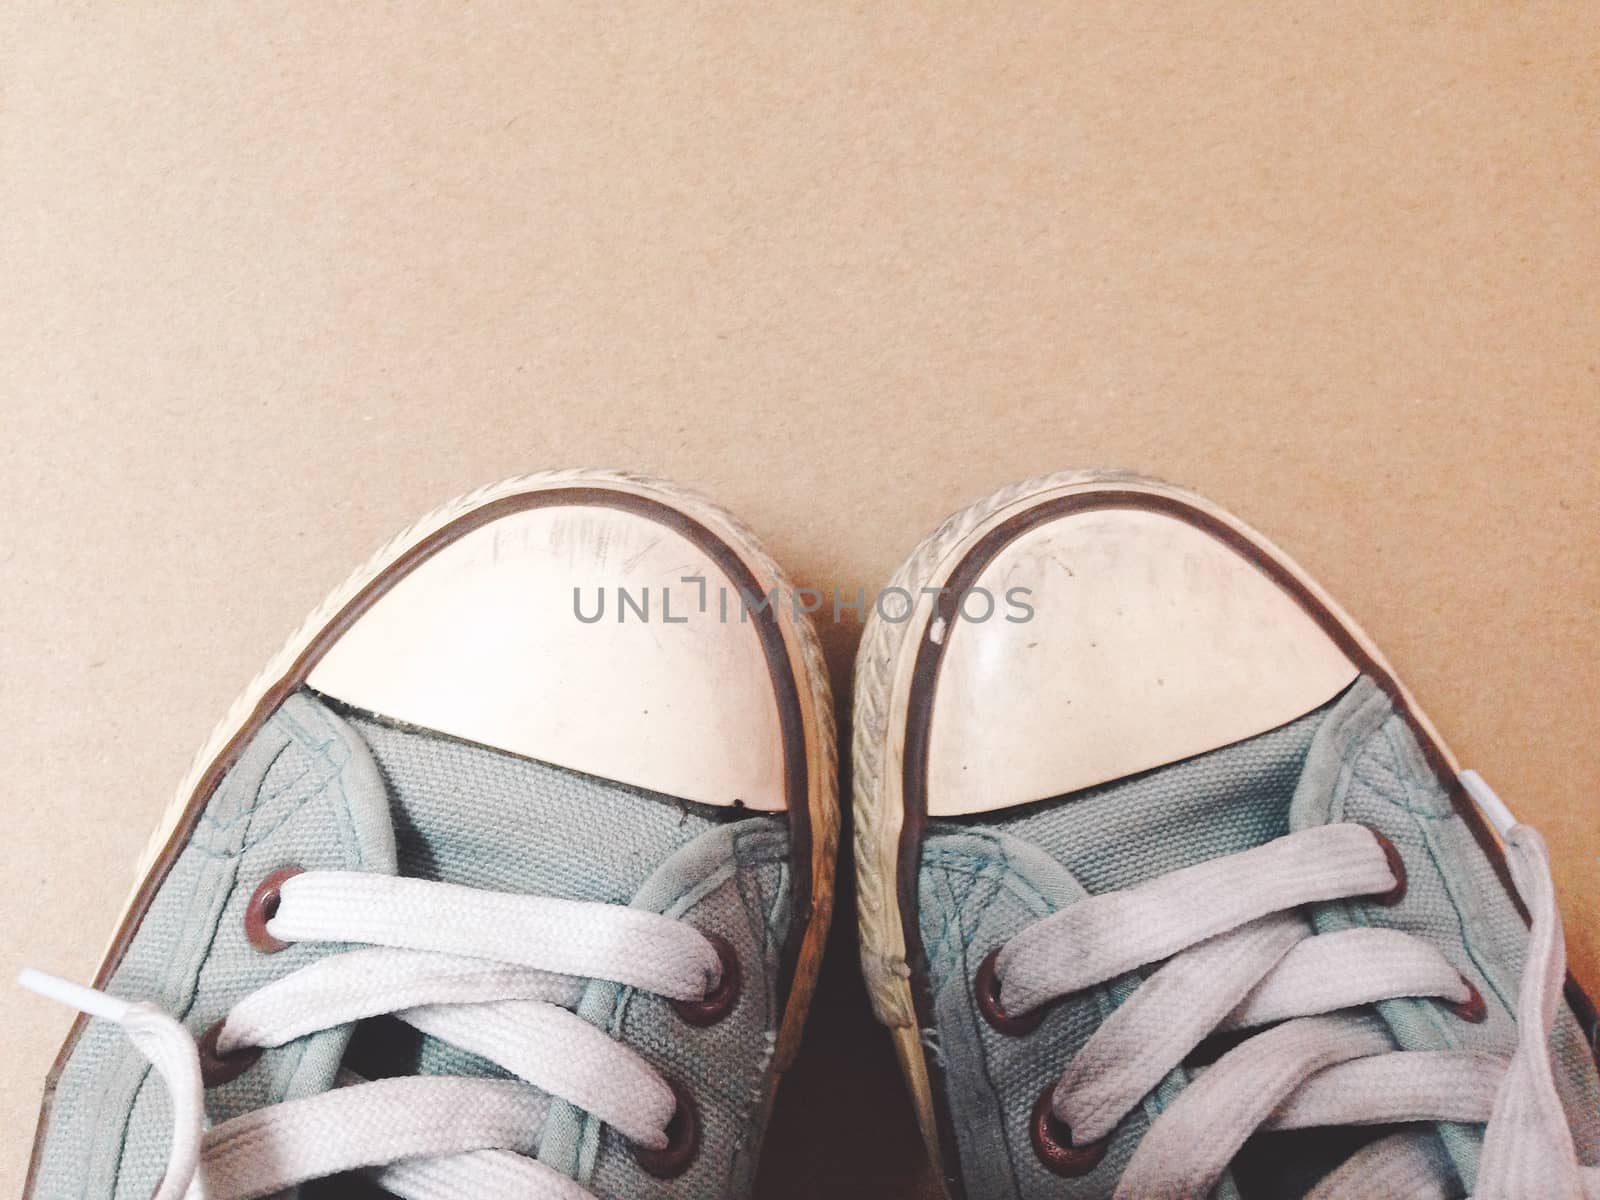
<svg viewBox="0 0 1600 1200">
<path fill-rule="evenodd" d="M 1310 712 L 1357 675 L 1245 554 L 1163 512 L 1086 507 L 1040 520 L 973 584 L 995 597 L 1029 589 L 1034 614 L 930 630 L 949 640 L 928 738 L 931 816 L 1214 750 Z"/>
</svg>

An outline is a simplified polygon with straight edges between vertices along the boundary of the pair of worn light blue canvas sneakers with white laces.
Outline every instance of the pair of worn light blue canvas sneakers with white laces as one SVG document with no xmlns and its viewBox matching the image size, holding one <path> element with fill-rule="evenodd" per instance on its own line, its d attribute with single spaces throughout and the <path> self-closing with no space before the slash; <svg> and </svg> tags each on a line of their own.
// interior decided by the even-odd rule
<svg viewBox="0 0 1600 1200">
<path fill-rule="evenodd" d="M 24 976 L 85 1014 L 30 1195 L 747 1194 L 834 898 L 818 603 L 626 475 L 395 539 L 94 989 Z M 1544 843 L 1272 544 L 1067 474 L 856 603 L 862 968 L 952 1197 L 1600 1197 Z"/>
</svg>

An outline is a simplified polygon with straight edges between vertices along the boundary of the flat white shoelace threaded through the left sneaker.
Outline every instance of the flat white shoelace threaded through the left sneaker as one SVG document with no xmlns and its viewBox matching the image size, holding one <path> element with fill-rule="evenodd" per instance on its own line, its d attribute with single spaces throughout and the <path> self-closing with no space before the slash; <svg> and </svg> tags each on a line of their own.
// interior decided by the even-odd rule
<svg viewBox="0 0 1600 1200">
<path fill-rule="evenodd" d="M 165 1080 L 173 1146 L 155 1200 L 251 1200 L 357 1170 L 403 1200 L 592 1200 L 528 1157 L 541 1125 L 534 1088 L 651 1150 L 669 1142 L 677 1098 L 643 1058 L 571 1011 L 586 981 L 698 1002 L 722 978 L 712 942 L 670 917 L 392 875 L 294 875 L 266 928 L 283 942 L 362 949 L 248 995 L 221 1027 L 219 1054 L 392 1013 L 517 1078 L 341 1072 L 328 1093 L 206 1130 L 200 1054 L 184 1026 L 149 1003 L 24 971 L 24 987 L 122 1026 Z"/>
</svg>

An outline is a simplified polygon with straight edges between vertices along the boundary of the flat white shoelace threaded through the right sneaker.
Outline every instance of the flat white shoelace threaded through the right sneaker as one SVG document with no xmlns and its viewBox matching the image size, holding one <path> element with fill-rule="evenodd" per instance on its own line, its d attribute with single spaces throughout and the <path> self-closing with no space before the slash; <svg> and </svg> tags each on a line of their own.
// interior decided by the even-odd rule
<svg viewBox="0 0 1600 1200">
<path fill-rule="evenodd" d="M 1482 1003 L 1411 934 L 1314 936 L 1293 912 L 1400 883 L 1363 826 L 1302 830 L 1091 896 L 1002 949 L 995 974 L 1008 1014 L 1166 960 L 1101 1024 L 1051 1094 L 1058 1130 L 1075 1147 L 1107 1138 L 1208 1035 L 1272 1026 L 1202 1069 L 1157 1117 L 1117 1200 L 1208 1197 L 1258 1130 L 1430 1120 L 1488 1123 L 1477 1200 L 1600 1200 L 1600 1168 L 1578 1160 L 1550 1062 L 1566 955 L 1549 853 L 1475 773 L 1462 781 L 1501 834 L 1533 917 L 1509 1059 L 1395 1051 L 1374 1016 L 1344 1011 L 1398 997 Z M 1437 1174 L 1429 1136 L 1403 1131 L 1357 1152 L 1307 1200 L 1446 1200 Z"/>
</svg>

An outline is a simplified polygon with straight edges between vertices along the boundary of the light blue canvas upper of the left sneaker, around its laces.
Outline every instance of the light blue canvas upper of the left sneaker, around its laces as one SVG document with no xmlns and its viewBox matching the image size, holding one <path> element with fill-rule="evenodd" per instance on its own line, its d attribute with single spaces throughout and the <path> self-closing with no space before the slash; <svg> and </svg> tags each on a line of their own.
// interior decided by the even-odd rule
<svg viewBox="0 0 1600 1200">
<path fill-rule="evenodd" d="M 632 904 L 728 938 L 739 1005 L 691 1029 L 659 997 L 595 982 L 579 1011 L 694 1094 L 702 1149 L 675 1181 L 643 1173 L 626 1144 L 562 1101 L 544 1104 L 538 1157 L 619 1200 L 749 1189 L 776 1037 L 778 958 L 789 922 L 789 838 L 770 816 L 734 816 L 480 746 L 338 712 L 302 691 L 266 722 L 206 805 L 109 989 L 181 1016 L 198 1038 L 272 979 L 338 947 L 264 955 L 243 907 L 269 872 L 354 869 L 494 891 Z M 394 1022 L 341 1027 L 267 1050 L 206 1091 L 214 1123 L 328 1090 L 341 1064 L 366 1077 L 416 1070 L 504 1075 Z M 37 1166 L 42 1197 L 146 1200 L 162 1179 L 170 1099 L 114 1026 L 93 1022 L 56 1086 Z M 346 1186 L 350 1186 L 346 1182 Z"/>
</svg>

